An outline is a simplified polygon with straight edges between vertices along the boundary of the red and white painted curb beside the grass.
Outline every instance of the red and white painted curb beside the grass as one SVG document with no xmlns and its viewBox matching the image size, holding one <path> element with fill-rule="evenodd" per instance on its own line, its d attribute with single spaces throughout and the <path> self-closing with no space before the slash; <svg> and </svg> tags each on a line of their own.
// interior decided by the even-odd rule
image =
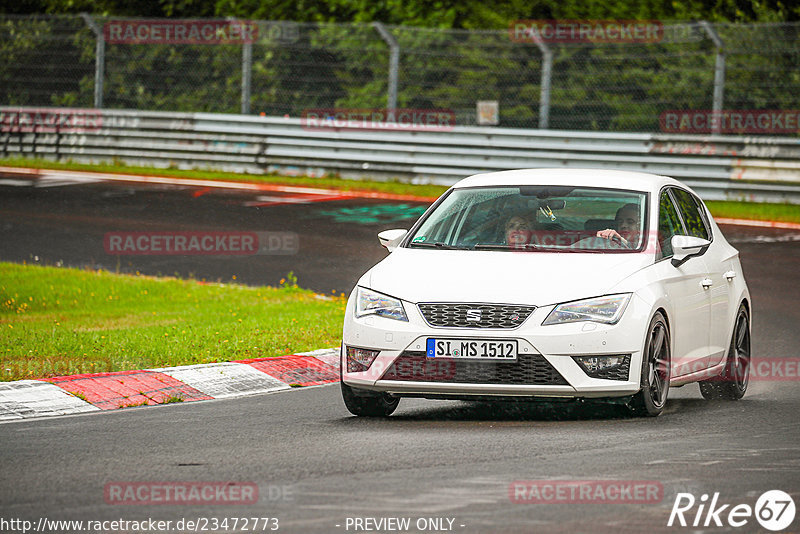
<svg viewBox="0 0 800 534">
<path fill-rule="evenodd" d="M 0 422 L 228 399 L 339 381 L 339 349 L 235 362 L 0 382 Z"/>
</svg>

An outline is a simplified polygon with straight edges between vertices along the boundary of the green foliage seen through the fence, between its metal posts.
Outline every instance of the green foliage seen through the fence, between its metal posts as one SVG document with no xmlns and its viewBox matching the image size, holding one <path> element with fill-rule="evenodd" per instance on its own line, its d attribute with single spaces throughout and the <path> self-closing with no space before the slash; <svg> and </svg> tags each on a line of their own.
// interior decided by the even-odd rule
<svg viewBox="0 0 800 534">
<path fill-rule="evenodd" d="M 83 0 L 47 0 L 70 12 Z M 113 16 L 127 4 L 97 4 Z M 154 4 L 145 3 L 148 13 Z M 389 47 L 368 24 L 382 20 L 400 47 L 398 105 L 449 109 L 457 124 L 476 121 L 478 100 L 500 103 L 500 124 L 540 124 L 542 52 L 514 42 L 515 19 L 699 19 L 785 21 L 798 8 L 779 2 L 716 0 L 643 3 L 521 2 L 487 6 L 439 1 L 331 0 L 305 4 L 268 0 L 165 0 L 161 15 L 228 16 L 314 21 L 294 24 L 286 38 L 261 24 L 252 46 L 250 110 L 300 117 L 311 109 L 387 105 Z M 102 26 L 108 18 L 96 17 Z M 328 21 L 356 21 L 331 24 Z M 408 26 L 415 25 L 414 27 Z M 794 109 L 800 92 L 800 25 L 714 26 L 724 42 L 726 109 Z M 453 29 L 453 28 L 470 28 Z M 480 30 L 480 28 L 494 28 Z M 652 44 L 558 44 L 552 70 L 552 129 L 659 129 L 668 110 L 712 107 L 716 50 L 699 27 Z M 91 107 L 96 38 L 79 17 L 0 18 L 0 102 Z M 104 107 L 237 113 L 241 109 L 241 45 L 107 44 Z"/>
</svg>

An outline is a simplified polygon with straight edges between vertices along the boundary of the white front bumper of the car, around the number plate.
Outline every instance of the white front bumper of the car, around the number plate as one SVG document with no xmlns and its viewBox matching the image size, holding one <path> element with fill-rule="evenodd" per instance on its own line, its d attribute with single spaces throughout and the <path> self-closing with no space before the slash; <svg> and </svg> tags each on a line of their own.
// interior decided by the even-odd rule
<svg viewBox="0 0 800 534">
<path fill-rule="evenodd" d="M 591 322 L 542 326 L 553 306 L 537 308 L 514 329 L 439 328 L 428 325 L 417 306 L 404 303 L 408 322 L 345 314 L 342 375 L 346 384 L 398 396 L 621 397 L 639 389 L 649 307 L 631 299 L 616 325 Z M 646 311 L 645 311 L 646 310 Z M 429 360 L 427 339 L 513 339 L 516 362 Z M 379 350 L 366 371 L 349 372 L 346 347 Z M 625 354 L 627 373 L 593 378 L 573 356 Z"/>
</svg>

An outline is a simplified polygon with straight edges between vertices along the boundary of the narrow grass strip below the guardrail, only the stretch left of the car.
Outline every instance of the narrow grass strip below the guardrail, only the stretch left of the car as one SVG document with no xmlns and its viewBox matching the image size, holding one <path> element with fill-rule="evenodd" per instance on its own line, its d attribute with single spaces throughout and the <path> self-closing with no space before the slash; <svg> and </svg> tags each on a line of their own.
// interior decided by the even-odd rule
<svg viewBox="0 0 800 534">
<path fill-rule="evenodd" d="M 347 180 L 344 178 L 325 177 L 310 178 L 307 176 L 278 176 L 272 174 L 238 174 L 224 171 L 200 171 L 183 169 L 157 169 L 154 167 L 131 167 L 123 164 L 86 164 L 72 162 L 56 162 L 44 159 L 28 158 L 0 158 L 0 166 L 5 167 L 31 167 L 35 169 L 59 169 L 70 171 L 108 172 L 117 174 L 145 174 L 155 176 L 174 176 L 176 178 L 191 178 L 194 180 L 222 180 L 228 182 L 257 182 L 269 184 L 301 185 L 338 189 L 342 191 L 377 191 L 397 195 L 416 195 L 421 197 L 436 198 L 447 190 L 441 185 L 410 184 L 399 180 L 387 182 L 373 182 L 364 180 Z"/>
</svg>

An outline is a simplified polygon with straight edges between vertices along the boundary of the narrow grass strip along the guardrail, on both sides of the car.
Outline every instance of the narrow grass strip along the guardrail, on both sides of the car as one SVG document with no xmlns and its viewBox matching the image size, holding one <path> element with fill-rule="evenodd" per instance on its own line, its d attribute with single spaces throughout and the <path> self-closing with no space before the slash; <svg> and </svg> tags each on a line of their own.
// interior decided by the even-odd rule
<svg viewBox="0 0 800 534">
<path fill-rule="evenodd" d="M 90 165 L 84 163 L 55 162 L 44 159 L 7 158 L 0 159 L 0 166 L 32 167 L 40 169 L 64 169 L 76 171 L 109 172 L 118 174 L 152 174 L 175 176 L 196 180 L 248 181 L 271 184 L 288 184 L 339 189 L 343 191 L 378 191 L 397 195 L 415 195 L 435 198 L 447 187 L 439 185 L 411 184 L 402 181 L 375 182 L 369 180 L 345 180 L 342 178 L 287 177 L 263 174 L 237 174 L 223 171 L 198 171 L 180 169 L 156 169 L 153 167 L 129 167 L 123 164 Z M 800 205 L 773 204 L 738 201 L 709 201 L 708 208 L 714 217 L 755 219 L 800 223 Z"/>
</svg>

